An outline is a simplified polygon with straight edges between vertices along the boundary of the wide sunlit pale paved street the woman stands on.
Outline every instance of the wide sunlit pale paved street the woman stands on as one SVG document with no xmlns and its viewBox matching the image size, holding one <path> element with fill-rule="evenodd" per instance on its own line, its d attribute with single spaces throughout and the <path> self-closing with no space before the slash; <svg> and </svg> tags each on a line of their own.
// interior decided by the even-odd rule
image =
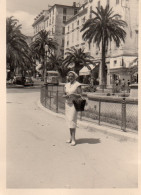
<svg viewBox="0 0 141 195">
<path fill-rule="evenodd" d="M 7 90 L 7 188 L 136 188 L 137 143 L 77 129 L 37 102 L 39 89 Z"/>
</svg>

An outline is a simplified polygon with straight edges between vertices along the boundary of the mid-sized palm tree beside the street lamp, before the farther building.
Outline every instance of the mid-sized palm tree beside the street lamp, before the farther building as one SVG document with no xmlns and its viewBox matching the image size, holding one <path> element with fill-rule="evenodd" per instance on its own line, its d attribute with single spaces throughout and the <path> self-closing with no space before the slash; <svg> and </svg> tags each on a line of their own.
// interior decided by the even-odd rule
<svg viewBox="0 0 141 195">
<path fill-rule="evenodd" d="M 39 61 L 43 61 L 43 69 L 44 69 L 44 81 L 46 82 L 46 52 L 52 53 L 57 49 L 57 42 L 49 37 L 49 32 L 46 30 L 41 30 L 38 33 L 35 41 L 31 44 L 31 50 L 36 55 Z M 48 47 L 48 51 L 46 51 L 45 47 Z"/>
</svg>

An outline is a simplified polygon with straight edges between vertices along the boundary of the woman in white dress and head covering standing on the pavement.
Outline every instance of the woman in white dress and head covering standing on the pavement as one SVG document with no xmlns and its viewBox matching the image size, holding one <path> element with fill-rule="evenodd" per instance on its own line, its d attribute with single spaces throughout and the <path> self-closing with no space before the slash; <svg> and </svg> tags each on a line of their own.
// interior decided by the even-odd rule
<svg viewBox="0 0 141 195">
<path fill-rule="evenodd" d="M 75 133 L 77 126 L 77 111 L 74 107 L 73 100 L 81 97 L 81 84 L 76 81 L 78 75 L 74 71 L 68 73 L 69 83 L 65 85 L 65 116 L 66 122 L 70 129 L 70 139 L 67 140 L 67 143 L 71 143 L 72 146 L 76 145 Z"/>
</svg>

